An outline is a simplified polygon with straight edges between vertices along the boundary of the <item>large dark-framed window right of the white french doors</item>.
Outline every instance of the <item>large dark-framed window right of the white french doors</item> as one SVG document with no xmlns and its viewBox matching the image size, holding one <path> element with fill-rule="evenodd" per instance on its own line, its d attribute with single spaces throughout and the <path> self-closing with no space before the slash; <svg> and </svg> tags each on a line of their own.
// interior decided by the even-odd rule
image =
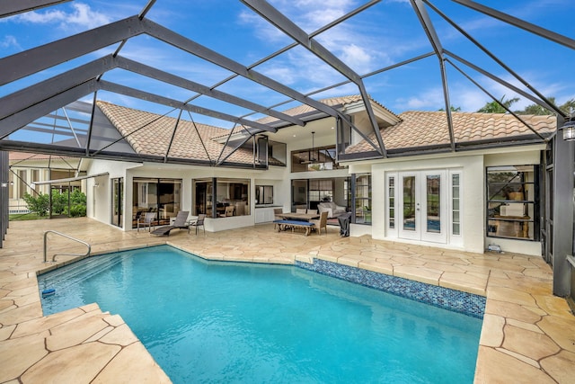
<svg viewBox="0 0 575 384">
<path fill-rule="evenodd" d="M 538 240 L 535 165 L 487 168 L 487 236 Z"/>
</svg>

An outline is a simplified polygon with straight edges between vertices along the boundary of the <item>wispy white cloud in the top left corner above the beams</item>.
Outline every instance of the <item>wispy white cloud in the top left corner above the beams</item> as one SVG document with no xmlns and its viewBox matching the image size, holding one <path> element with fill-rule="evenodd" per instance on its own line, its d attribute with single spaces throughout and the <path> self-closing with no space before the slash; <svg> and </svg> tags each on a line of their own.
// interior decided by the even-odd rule
<svg viewBox="0 0 575 384">
<path fill-rule="evenodd" d="M 27 12 L 13 17 L 13 21 L 32 24 L 58 24 L 63 30 L 92 29 L 111 22 L 111 18 L 83 3 L 71 4 L 72 10 L 49 10 L 45 12 Z"/>
</svg>

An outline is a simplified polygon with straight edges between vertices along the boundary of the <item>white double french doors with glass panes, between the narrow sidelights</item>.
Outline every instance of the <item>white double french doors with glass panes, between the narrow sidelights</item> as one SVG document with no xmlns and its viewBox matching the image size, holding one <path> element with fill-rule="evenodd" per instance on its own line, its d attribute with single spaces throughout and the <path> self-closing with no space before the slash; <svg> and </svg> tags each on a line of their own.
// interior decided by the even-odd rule
<svg viewBox="0 0 575 384">
<path fill-rule="evenodd" d="M 402 172 L 398 176 L 399 237 L 447 243 L 446 171 Z"/>
</svg>

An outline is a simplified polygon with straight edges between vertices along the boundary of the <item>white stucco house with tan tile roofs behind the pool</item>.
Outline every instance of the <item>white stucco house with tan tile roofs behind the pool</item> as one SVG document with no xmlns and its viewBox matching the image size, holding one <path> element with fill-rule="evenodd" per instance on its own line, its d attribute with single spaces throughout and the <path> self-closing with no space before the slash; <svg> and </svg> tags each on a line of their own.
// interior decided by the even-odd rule
<svg viewBox="0 0 575 384">
<path fill-rule="evenodd" d="M 281 122 L 277 132 L 234 129 L 229 135 L 98 102 L 135 156 L 170 156 L 181 164 L 134 156 L 86 160 L 87 174 L 102 174 L 86 182 L 87 214 L 130 230 L 145 211 L 157 212 L 164 224 L 188 210 L 207 214 L 206 229 L 220 231 L 270 222 L 274 208 L 317 209 L 332 201 L 352 212 L 350 236 L 542 255 L 545 138 L 555 131 L 554 116 L 519 121 L 510 114 L 452 112 L 450 140 L 446 112 L 395 115 L 371 101 L 388 155 L 382 158 L 369 144 L 376 137 L 359 96 L 322 102 L 358 129 L 300 106 L 284 113 L 305 127 Z M 226 207 L 233 207 L 232 216 Z"/>
</svg>

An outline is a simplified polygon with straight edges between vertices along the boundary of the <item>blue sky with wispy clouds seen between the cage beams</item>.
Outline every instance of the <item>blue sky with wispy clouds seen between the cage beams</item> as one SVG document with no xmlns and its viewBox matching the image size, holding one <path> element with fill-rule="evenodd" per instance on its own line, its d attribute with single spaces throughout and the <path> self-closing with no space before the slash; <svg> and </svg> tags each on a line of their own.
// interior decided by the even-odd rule
<svg viewBox="0 0 575 384">
<path fill-rule="evenodd" d="M 575 73 L 573 72 L 575 51 L 573 49 L 544 40 L 452 1 L 431 0 L 431 2 L 542 94 L 556 97 L 557 103 L 560 104 L 575 98 Z M 78 0 L 0 19 L 0 52 L 2 52 L 2 57 L 9 56 L 108 22 L 118 21 L 139 13 L 146 3 L 147 0 Z M 509 0 L 504 2 L 483 0 L 477 3 L 575 39 L 575 22 L 573 22 L 575 1 L 573 0 Z M 270 4 L 288 15 L 304 31 L 311 33 L 342 14 L 349 13 L 364 2 L 277 0 L 270 1 Z M 476 49 L 437 13 L 429 8 L 428 11 L 445 49 L 491 71 L 506 81 L 518 84 L 517 80 L 494 63 L 491 58 Z M 244 66 L 250 66 L 292 42 L 269 22 L 261 19 L 241 2 L 234 0 L 208 2 L 158 0 L 146 17 L 209 49 L 233 58 Z M 382 1 L 347 22 L 342 22 L 319 34 L 315 39 L 359 75 L 394 65 L 432 50 L 407 0 Z M 0 97 L 72 67 L 101 58 L 112 53 L 117 47 L 118 45 L 113 45 L 100 49 L 82 58 L 75 58 L 65 64 L 49 68 L 40 74 L 1 86 Z M 149 36 L 138 36 L 128 40 L 120 55 L 202 85 L 215 85 L 230 75 L 226 69 L 191 57 Z M 477 74 L 473 69 L 458 65 L 494 96 L 500 98 L 505 95 L 510 98 L 516 95 L 504 86 Z M 327 66 L 301 47 L 290 49 L 254 69 L 302 94 L 314 92 L 344 80 L 343 76 L 332 67 Z M 114 69 L 102 78 L 177 100 L 187 100 L 194 95 L 188 90 L 163 85 L 155 80 L 133 75 L 120 69 Z M 461 107 L 463 111 L 474 112 L 485 103 L 491 102 L 487 94 L 483 94 L 449 65 L 447 65 L 447 81 L 451 104 Z M 425 58 L 407 66 L 367 77 L 364 82 L 368 94 L 396 113 L 410 110 L 437 111 L 445 107 L 436 57 Z M 524 86 L 521 88 L 526 89 Z M 283 94 L 267 90 L 261 85 L 242 78 L 235 78 L 217 89 L 266 106 L 287 100 Z M 312 97 L 323 98 L 344 94 L 358 94 L 357 86 L 343 85 L 321 94 L 314 94 Z M 99 93 L 99 98 L 111 103 L 153 112 L 171 112 L 168 107 L 118 94 L 102 92 Z M 86 97 L 85 100 L 91 101 L 92 98 Z M 243 108 L 214 101 L 206 96 L 200 96 L 192 103 L 237 116 L 249 113 Z M 521 98 L 514 108 L 520 109 L 531 103 Z M 285 107 L 278 109 L 282 110 L 293 105 L 286 104 Z M 260 115 L 252 116 L 252 118 L 257 117 Z M 218 126 L 230 125 L 201 116 L 194 116 L 194 119 Z"/>
</svg>

